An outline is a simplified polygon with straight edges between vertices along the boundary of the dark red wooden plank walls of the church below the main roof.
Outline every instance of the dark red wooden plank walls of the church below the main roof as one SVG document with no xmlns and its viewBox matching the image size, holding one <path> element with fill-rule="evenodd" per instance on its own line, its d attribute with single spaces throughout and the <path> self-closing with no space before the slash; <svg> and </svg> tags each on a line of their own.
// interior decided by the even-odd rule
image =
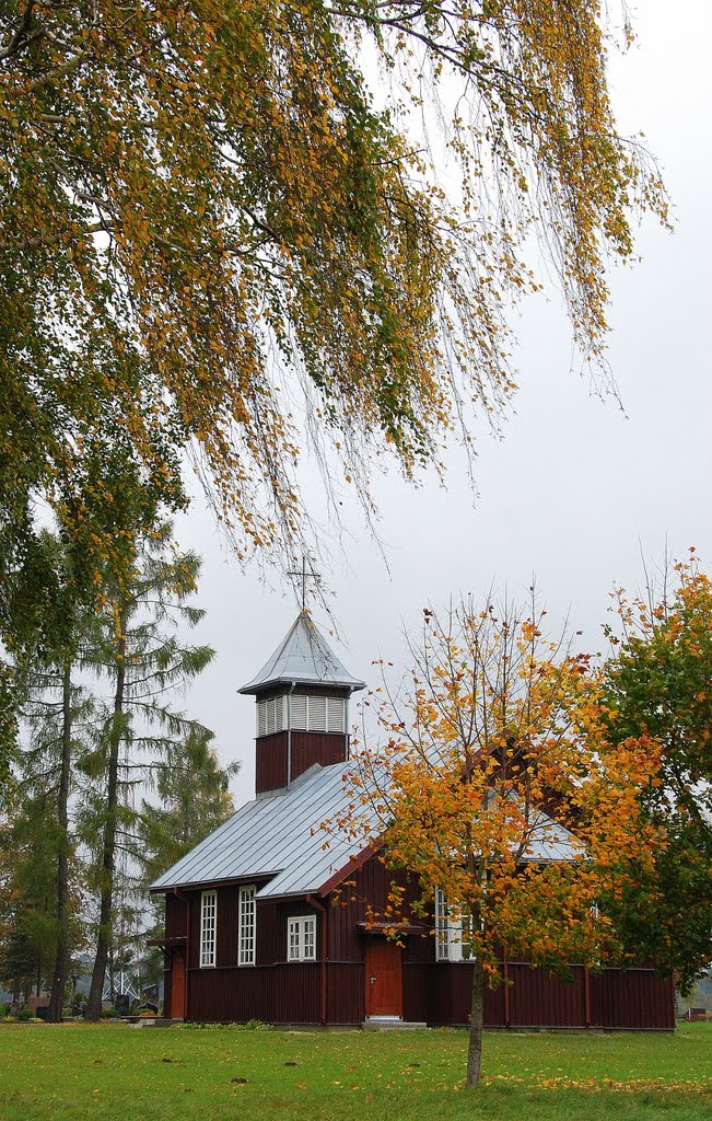
<svg viewBox="0 0 712 1121">
<path fill-rule="evenodd" d="M 368 860 L 327 907 L 326 919 L 306 899 L 257 900 L 256 964 L 237 965 L 238 887 L 217 887 L 216 966 L 200 969 L 200 891 L 167 899 L 167 935 L 186 933 L 186 904 L 190 901 L 187 973 L 188 1018 L 191 1020 L 265 1020 L 272 1023 L 356 1025 L 365 1019 L 365 954 L 369 941 L 368 906 L 381 907 L 392 879 L 377 858 Z M 414 896 L 406 883 L 406 898 Z M 287 962 L 288 919 L 317 917 L 317 961 Z M 321 961 L 326 921 L 326 962 Z M 403 1016 L 406 1020 L 438 1025 L 466 1025 L 470 1012 L 471 966 L 466 962 L 434 961 L 434 939 L 425 919 L 422 933 L 403 934 Z M 563 982 L 526 963 L 508 963 L 512 984 L 487 991 L 488 1027 L 593 1027 L 672 1029 L 673 991 L 652 969 L 626 972 L 606 970 L 588 979 L 583 966 L 571 966 Z M 322 1012 L 321 983 L 327 1000 Z M 170 978 L 166 999 L 170 1000 Z M 506 1011 L 508 1010 L 508 1021 Z"/>
</svg>

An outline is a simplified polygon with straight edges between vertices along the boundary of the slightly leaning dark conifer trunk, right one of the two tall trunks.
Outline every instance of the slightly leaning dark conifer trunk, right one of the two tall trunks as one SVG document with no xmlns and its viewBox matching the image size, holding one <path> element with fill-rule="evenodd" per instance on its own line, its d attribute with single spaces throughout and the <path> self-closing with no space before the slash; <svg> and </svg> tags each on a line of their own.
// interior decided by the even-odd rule
<svg viewBox="0 0 712 1121">
<path fill-rule="evenodd" d="M 102 852 L 101 907 L 99 912 L 99 936 L 96 939 L 96 957 L 88 999 L 86 1001 L 86 1020 L 96 1021 L 102 1013 L 102 993 L 114 902 L 114 865 L 116 855 L 116 815 L 119 809 L 119 751 L 123 733 L 123 701 L 125 684 L 125 617 L 121 613 L 120 638 L 116 643 L 116 691 L 114 693 L 114 711 L 109 741 L 109 781 L 106 789 L 106 824 L 104 825 L 104 842 Z"/>
</svg>

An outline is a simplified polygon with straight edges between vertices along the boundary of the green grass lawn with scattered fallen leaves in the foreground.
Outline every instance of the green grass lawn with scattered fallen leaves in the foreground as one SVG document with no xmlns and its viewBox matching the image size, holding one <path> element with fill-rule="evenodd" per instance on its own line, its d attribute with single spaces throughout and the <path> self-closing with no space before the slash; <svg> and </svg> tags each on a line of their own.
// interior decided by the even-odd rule
<svg viewBox="0 0 712 1121">
<path fill-rule="evenodd" d="M 712 1025 L 674 1035 L 0 1026 L 2 1121 L 712 1121 Z M 246 1080 L 245 1082 L 236 1080 Z"/>
</svg>

